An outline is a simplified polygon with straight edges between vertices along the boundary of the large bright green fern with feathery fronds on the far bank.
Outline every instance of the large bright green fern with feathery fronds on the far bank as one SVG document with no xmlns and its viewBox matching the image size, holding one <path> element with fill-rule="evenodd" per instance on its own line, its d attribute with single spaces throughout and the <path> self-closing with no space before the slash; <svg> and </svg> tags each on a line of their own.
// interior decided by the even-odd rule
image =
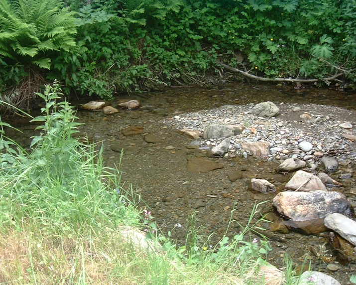
<svg viewBox="0 0 356 285">
<path fill-rule="evenodd" d="M 0 0 L 0 57 L 50 69 L 56 51 L 76 45 L 74 14 L 57 0 Z"/>
</svg>

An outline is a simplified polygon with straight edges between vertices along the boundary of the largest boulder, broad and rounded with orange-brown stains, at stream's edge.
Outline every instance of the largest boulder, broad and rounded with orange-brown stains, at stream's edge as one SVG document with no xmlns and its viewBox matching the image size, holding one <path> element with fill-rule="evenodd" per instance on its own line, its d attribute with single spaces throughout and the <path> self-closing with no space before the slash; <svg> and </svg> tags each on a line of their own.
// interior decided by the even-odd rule
<svg viewBox="0 0 356 285">
<path fill-rule="evenodd" d="M 324 219 L 327 214 L 351 215 L 352 206 L 340 192 L 280 192 L 273 198 L 278 213 L 293 221 Z"/>
</svg>

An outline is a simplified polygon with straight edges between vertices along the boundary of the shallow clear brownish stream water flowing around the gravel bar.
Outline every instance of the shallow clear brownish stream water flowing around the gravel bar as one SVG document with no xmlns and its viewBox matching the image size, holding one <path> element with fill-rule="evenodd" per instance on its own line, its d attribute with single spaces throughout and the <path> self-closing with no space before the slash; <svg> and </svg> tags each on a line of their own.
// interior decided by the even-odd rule
<svg viewBox="0 0 356 285">
<path fill-rule="evenodd" d="M 139 109 L 119 110 L 119 113 L 113 115 L 78 109 L 77 117 L 83 123 L 80 136 L 86 135 L 92 142 L 104 142 L 106 165 L 123 171 L 123 188 L 132 184 L 132 189 L 137 194 L 133 198 L 138 207 L 142 211 L 151 211 L 154 222 L 162 233 L 167 236 L 169 231 L 178 245 L 185 244 L 187 232 L 193 226 L 204 241 L 210 236 L 208 245 L 214 246 L 225 234 L 233 237 L 241 231 L 240 225 L 246 225 L 256 203 L 266 201 L 259 205 L 252 223 L 265 214 L 272 217 L 272 220 L 275 219 L 277 214 L 271 200 L 283 189 L 293 173 L 275 173 L 274 161 L 254 155 L 247 158 L 210 157 L 209 159 L 223 164 L 224 168 L 207 173 L 190 172 L 187 169 L 187 159 L 193 156 L 206 157 L 206 152 L 199 148 L 187 148 L 194 139 L 172 128 L 169 120 L 175 116 L 184 116 L 185 113 L 214 110 L 224 105 L 241 106 L 271 101 L 276 105 L 327 105 L 331 110 L 333 106 L 342 107 L 345 109 L 345 120 L 354 123 L 356 121 L 352 115 L 355 113 L 349 112 L 356 110 L 355 92 L 318 89 L 314 86 L 294 89 L 293 86 L 232 84 L 212 89 L 167 88 L 160 92 L 121 95 L 109 104 L 116 107 L 118 102 L 132 99 L 141 103 Z M 70 102 L 73 106 L 80 106 L 91 100 L 94 99 L 72 98 Z M 8 136 L 28 147 L 36 126 L 20 117 L 9 117 L 7 121 L 24 132 L 18 136 L 10 131 Z M 132 126 L 143 128 L 142 133 L 124 136 L 121 131 Z M 155 143 L 146 142 L 144 136 L 147 134 L 153 134 L 159 140 Z M 340 167 L 340 171 L 354 173 L 338 191 L 345 193 L 355 205 L 355 161 L 344 163 Z M 241 177 L 232 182 L 229 174 L 237 170 Z M 248 182 L 251 178 L 272 181 L 277 192 L 263 194 L 249 190 Z M 279 227 L 276 222 L 261 222 L 258 225 L 266 229 L 263 234 L 270 240 L 272 247 L 267 260 L 278 268 L 284 266 L 284 256 L 288 254 L 299 270 L 306 259 L 307 263 L 311 262 L 312 270 L 333 276 L 341 284 L 348 284 L 350 276 L 356 272 L 356 259 L 342 264 L 334 256 L 330 260 L 318 256 L 318 251 L 323 256 L 333 255 L 328 245 L 327 233 L 306 235 L 298 230 Z M 255 235 L 252 238 L 260 239 L 260 236 Z M 339 265 L 339 269 L 327 269 L 330 262 Z"/>
</svg>

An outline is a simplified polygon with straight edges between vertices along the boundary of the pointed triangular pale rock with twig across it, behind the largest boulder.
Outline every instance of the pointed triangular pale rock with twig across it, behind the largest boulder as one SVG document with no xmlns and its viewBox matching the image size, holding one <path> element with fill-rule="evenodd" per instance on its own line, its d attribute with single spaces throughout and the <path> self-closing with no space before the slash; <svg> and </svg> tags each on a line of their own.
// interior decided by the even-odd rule
<svg viewBox="0 0 356 285">
<path fill-rule="evenodd" d="M 298 170 L 293 175 L 293 177 L 285 185 L 285 189 L 293 191 L 298 189 L 298 191 L 304 192 L 314 190 L 328 191 L 319 177 L 303 170 Z"/>
</svg>

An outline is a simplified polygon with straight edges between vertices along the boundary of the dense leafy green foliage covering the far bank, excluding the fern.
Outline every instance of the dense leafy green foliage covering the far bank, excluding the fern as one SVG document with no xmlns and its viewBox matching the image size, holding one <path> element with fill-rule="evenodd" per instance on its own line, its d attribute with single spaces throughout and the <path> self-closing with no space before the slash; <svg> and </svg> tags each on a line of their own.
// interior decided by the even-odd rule
<svg viewBox="0 0 356 285">
<path fill-rule="evenodd" d="M 71 27 L 78 31 L 77 46 L 49 54 L 46 73 L 66 92 L 74 88 L 104 98 L 157 84 L 202 84 L 208 71 L 221 73 L 217 60 L 269 78 L 342 72 L 349 86 L 355 81 L 356 0 L 68 0 L 67 5 L 68 13 L 77 12 Z M 0 62 L 8 68 L 16 64 L 5 53 Z"/>
</svg>

